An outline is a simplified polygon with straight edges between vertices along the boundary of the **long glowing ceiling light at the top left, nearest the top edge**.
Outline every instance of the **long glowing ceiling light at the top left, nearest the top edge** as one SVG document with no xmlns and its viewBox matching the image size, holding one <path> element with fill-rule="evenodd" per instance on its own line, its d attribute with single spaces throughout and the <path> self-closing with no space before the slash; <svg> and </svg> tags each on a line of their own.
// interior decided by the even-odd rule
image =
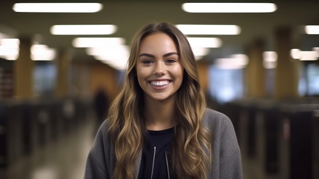
<svg viewBox="0 0 319 179">
<path fill-rule="evenodd" d="M 15 3 L 15 12 L 93 13 L 103 8 L 100 3 Z"/>
</svg>

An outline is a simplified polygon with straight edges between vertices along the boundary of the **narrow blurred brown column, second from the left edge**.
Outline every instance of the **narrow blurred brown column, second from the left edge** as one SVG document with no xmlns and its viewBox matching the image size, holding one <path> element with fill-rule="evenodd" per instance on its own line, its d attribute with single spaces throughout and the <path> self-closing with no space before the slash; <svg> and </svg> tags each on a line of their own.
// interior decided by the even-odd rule
<svg viewBox="0 0 319 179">
<path fill-rule="evenodd" d="M 56 60 L 57 65 L 57 83 L 56 96 L 64 97 L 69 95 L 69 72 L 71 64 L 71 53 L 69 50 L 59 50 L 59 55 Z"/>
</svg>

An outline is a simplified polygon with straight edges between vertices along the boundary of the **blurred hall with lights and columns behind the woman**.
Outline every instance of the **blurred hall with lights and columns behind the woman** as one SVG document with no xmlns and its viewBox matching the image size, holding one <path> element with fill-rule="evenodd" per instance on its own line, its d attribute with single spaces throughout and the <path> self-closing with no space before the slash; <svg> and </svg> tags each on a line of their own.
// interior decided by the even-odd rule
<svg viewBox="0 0 319 179">
<path fill-rule="evenodd" d="M 319 178 L 319 2 L 200 2 L 1 1 L 0 178 L 83 178 L 132 36 L 162 21 L 233 122 L 244 178 Z"/>
</svg>

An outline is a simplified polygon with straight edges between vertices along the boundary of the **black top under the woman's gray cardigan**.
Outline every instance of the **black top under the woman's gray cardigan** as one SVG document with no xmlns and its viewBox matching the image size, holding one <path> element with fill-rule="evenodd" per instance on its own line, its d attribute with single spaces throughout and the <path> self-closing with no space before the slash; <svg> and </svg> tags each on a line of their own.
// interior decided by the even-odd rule
<svg viewBox="0 0 319 179">
<path fill-rule="evenodd" d="M 168 173 L 170 173 L 171 179 L 175 178 L 171 174 L 171 143 L 173 138 L 174 127 L 163 131 L 148 131 L 142 151 L 139 179 L 165 179 L 169 178 Z"/>
</svg>

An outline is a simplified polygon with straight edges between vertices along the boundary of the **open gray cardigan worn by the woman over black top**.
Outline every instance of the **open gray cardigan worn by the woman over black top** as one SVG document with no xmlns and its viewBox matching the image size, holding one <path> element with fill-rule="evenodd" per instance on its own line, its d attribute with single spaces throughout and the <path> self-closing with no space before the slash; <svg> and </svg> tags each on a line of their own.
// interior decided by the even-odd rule
<svg viewBox="0 0 319 179">
<path fill-rule="evenodd" d="M 212 166 L 208 175 L 212 178 L 242 178 L 241 151 L 237 143 L 230 119 L 217 111 L 207 109 L 203 124 L 211 131 Z M 112 178 L 115 167 L 114 147 L 107 135 L 108 120 L 105 120 L 97 132 L 92 149 L 87 159 L 86 179 Z M 138 176 L 141 154 L 136 165 Z"/>
</svg>

